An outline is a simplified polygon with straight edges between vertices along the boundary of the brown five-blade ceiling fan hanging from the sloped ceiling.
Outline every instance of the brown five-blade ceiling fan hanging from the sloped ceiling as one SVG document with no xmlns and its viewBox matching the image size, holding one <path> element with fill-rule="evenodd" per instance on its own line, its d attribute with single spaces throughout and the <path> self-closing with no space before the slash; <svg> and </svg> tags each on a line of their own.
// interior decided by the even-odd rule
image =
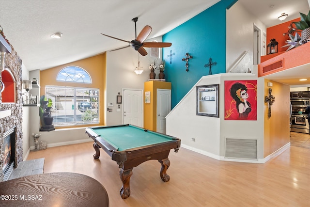
<svg viewBox="0 0 310 207">
<path fill-rule="evenodd" d="M 133 18 L 132 21 L 135 22 L 135 31 L 136 31 L 136 39 L 134 39 L 132 41 L 122 40 L 122 39 L 112 37 L 112 36 L 109 36 L 109 35 L 103 34 L 103 33 L 101 33 L 101 34 L 105 35 L 107 37 L 111 37 L 113 39 L 117 39 L 117 40 L 129 43 L 129 45 L 124 47 L 124 48 L 131 46 L 132 48 L 137 50 L 142 56 L 147 55 L 147 52 L 143 47 L 145 47 L 145 48 L 167 48 L 167 47 L 170 47 L 172 45 L 171 43 L 165 43 L 165 42 L 143 42 L 152 32 L 152 27 L 150 27 L 149 25 L 146 25 L 141 30 L 139 35 L 137 36 L 136 22 L 138 21 L 138 17 Z M 118 48 L 118 49 L 123 49 L 123 48 Z M 114 50 L 118 50 L 118 49 L 114 49 Z M 111 51 L 114 51 L 114 50 L 111 50 Z"/>
</svg>

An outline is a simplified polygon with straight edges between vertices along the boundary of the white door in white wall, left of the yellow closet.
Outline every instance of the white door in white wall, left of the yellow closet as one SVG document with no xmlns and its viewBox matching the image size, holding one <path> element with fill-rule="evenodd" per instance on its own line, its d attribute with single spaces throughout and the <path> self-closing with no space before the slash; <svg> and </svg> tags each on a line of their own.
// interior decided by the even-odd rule
<svg viewBox="0 0 310 207">
<path fill-rule="evenodd" d="M 142 90 L 123 90 L 123 123 L 143 127 Z"/>
</svg>

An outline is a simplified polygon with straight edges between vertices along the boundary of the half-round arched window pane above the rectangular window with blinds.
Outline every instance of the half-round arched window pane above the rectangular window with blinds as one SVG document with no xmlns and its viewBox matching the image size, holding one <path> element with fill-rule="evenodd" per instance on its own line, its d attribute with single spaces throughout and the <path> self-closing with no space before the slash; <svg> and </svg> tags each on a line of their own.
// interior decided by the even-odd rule
<svg viewBox="0 0 310 207">
<path fill-rule="evenodd" d="M 57 75 L 57 81 L 92 83 L 90 75 L 81 67 L 68 66 L 62 68 Z"/>
</svg>

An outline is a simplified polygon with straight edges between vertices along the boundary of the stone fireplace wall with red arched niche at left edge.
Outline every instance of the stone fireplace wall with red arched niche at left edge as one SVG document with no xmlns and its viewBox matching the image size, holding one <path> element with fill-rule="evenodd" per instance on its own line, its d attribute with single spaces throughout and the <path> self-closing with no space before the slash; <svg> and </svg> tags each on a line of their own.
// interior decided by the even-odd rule
<svg viewBox="0 0 310 207">
<path fill-rule="evenodd" d="M 12 47 L 11 54 L 5 53 L 5 70 L 0 73 L 0 80 L 10 87 L 4 88 L 0 96 L 0 182 L 4 180 L 3 166 L 4 156 L 6 150 L 4 149 L 4 135 L 7 134 L 12 128 L 14 128 L 14 142 L 15 146 L 12 146 L 14 152 L 14 167 L 17 167 L 18 163 L 23 160 L 23 132 L 22 132 L 22 61 L 17 55 L 16 51 Z M 8 75 L 9 74 L 9 77 Z M 12 84 L 10 84 L 12 83 Z M 8 96 L 14 96 L 6 100 Z"/>
</svg>

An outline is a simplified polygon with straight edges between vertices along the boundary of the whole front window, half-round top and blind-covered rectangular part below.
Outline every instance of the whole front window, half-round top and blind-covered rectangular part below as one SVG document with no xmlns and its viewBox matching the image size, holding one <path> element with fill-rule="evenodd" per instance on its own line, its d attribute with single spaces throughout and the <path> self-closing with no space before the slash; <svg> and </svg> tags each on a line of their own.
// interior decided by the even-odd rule
<svg viewBox="0 0 310 207">
<path fill-rule="evenodd" d="M 62 68 L 56 80 L 92 83 L 90 75 L 78 66 Z M 99 124 L 99 89 L 88 86 L 45 86 L 45 96 L 52 102 L 50 111 L 54 127 Z"/>
</svg>

